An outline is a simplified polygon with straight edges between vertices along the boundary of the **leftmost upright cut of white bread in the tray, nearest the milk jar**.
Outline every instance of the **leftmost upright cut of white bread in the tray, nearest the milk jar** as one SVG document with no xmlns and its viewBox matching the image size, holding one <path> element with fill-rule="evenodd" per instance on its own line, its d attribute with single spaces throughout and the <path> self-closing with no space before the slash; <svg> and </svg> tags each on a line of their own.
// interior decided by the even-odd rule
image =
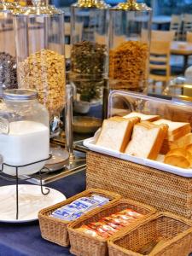
<svg viewBox="0 0 192 256">
<path fill-rule="evenodd" d="M 96 145 L 122 153 L 125 152 L 125 148 L 131 139 L 133 126 L 139 121 L 140 119 L 137 117 L 131 119 L 121 117 L 105 119 Z"/>
</svg>

